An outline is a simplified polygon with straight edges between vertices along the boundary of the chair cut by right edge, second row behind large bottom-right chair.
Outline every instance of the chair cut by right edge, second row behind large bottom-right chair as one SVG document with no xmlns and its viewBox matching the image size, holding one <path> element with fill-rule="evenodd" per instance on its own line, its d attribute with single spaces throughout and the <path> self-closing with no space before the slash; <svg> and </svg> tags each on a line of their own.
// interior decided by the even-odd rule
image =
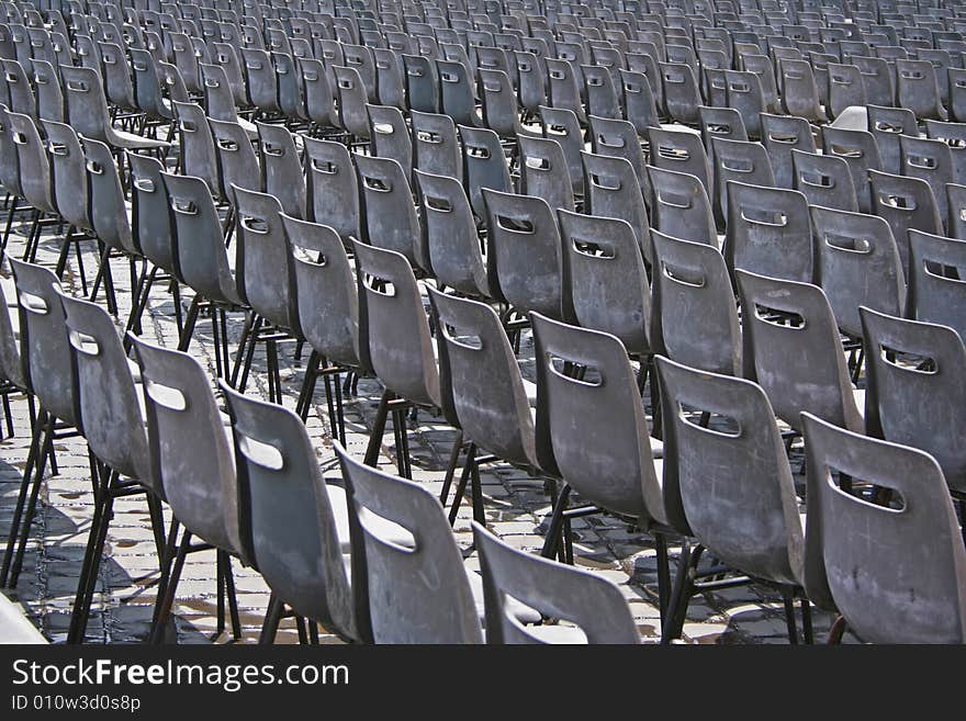
<svg viewBox="0 0 966 721">
<path fill-rule="evenodd" d="M 966 338 L 966 241 L 909 230 L 909 307 L 916 320 Z"/>
</svg>

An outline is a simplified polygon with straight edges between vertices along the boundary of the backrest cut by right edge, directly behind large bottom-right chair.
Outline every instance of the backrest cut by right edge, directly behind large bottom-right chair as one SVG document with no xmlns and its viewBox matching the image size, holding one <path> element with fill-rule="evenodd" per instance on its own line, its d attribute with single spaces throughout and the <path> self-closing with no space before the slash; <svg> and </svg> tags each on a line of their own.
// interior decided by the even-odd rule
<svg viewBox="0 0 966 721">
<path fill-rule="evenodd" d="M 966 412 L 966 346 L 946 326 L 862 308 L 869 435 L 932 455 L 950 487 L 966 491 L 966 453 L 956 433 Z"/>
</svg>

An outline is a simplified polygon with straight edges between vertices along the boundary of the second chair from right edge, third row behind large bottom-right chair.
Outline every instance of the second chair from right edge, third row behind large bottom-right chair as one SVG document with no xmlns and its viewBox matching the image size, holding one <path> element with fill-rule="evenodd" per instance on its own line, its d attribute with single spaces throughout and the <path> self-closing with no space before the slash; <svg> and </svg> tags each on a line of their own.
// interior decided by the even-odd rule
<svg viewBox="0 0 966 721">
<path fill-rule="evenodd" d="M 892 176 L 870 170 L 873 212 L 885 218 L 892 228 L 892 237 L 899 246 L 902 270 L 911 282 L 909 266 L 909 230 L 942 233 L 943 221 L 936 209 L 935 198 L 929 183 L 918 178 Z"/>
</svg>

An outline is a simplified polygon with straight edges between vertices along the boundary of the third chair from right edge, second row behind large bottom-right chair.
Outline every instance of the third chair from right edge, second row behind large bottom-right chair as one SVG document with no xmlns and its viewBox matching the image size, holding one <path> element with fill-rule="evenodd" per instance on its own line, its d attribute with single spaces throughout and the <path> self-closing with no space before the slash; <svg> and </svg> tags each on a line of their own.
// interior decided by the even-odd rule
<svg viewBox="0 0 966 721">
<path fill-rule="evenodd" d="M 724 260 L 729 270 L 811 282 L 808 202 L 795 190 L 729 181 Z"/>
</svg>

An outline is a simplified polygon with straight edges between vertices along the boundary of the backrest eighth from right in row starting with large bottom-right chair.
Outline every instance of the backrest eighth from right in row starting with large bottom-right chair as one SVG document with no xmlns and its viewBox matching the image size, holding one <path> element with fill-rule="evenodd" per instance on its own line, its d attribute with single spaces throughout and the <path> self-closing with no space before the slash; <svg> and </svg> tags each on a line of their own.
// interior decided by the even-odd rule
<svg viewBox="0 0 966 721">
<path fill-rule="evenodd" d="M 224 230 L 207 184 L 201 178 L 167 172 L 161 173 L 161 180 L 171 207 L 172 255 L 179 278 L 202 297 L 240 305 Z"/>
</svg>

